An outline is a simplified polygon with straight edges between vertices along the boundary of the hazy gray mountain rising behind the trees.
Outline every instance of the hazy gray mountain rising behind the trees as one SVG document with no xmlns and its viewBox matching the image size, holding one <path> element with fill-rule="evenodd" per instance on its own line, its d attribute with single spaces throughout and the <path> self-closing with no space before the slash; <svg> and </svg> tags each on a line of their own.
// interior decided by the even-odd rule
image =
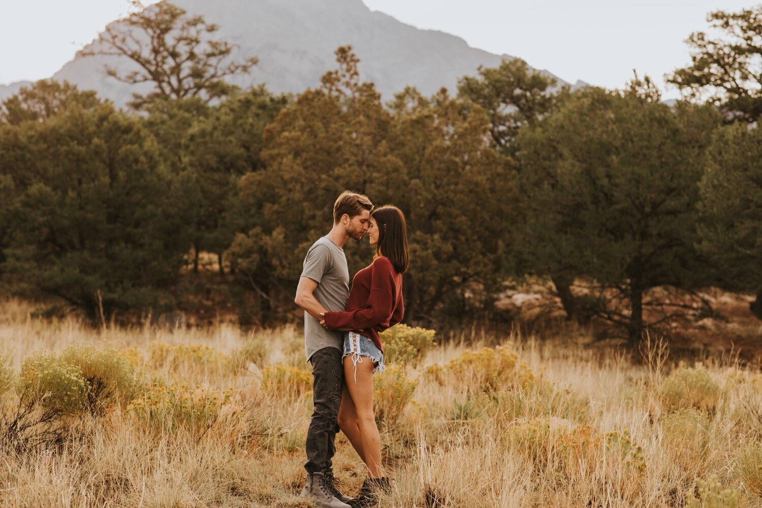
<svg viewBox="0 0 762 508">
<path fill-rule="evenodd" d="M 435 30 L 420 30 L 377 11 L 362 0 L 174 0 L 189 14 L 201 14 L 219 25 L 215 37 L 239 46 L 233 58 L 258 56 L 250 75 L 232 79 L 238 85 L 266 83 L 275 92 L 300 92 L 319 85 L 319 78 L 335 68 L 334 51 L 351 44 L 360 58 L 363 80 L 376 83 L 385 100 L 406 85 L 424 94 L 442 87 L 456 88 L 458 78 L 474 75 L 479 65 L 494 67 L 501 59 L 476 50 L 466 41 Z M 149 7 L 150 8 L 150 7 Z M 119 23 L 119 21 L 114 21 Z M 85 47 L 94 49 L 98 41 Z M 130 100 L 131 88 L 104 75 L 108 62 L 124 71 L 133 65 L 114 56 L 76 56 L 53 75 L 82 89 L 98 91 L 117 106 Z M 530 62 L 531 64 L 531 62 Z M 27 83 L 28 84 L 28 83 Z M 559 85 L 565 81 L 559 79 Z M 0 98 L 21 85 L 0 86 Z M 575 87 L 584 85 L 578 81 Z"/>
</svg>

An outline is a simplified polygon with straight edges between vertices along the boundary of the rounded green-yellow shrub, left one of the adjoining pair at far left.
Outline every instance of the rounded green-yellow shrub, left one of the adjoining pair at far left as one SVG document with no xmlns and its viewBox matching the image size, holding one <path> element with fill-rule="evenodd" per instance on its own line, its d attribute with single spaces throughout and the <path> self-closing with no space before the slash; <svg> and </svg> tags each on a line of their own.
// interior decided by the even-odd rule
<svg viewBox="0 0 762 508">
<path fill-rule="evenodd" d="M 18 394 L 62 414 L 82 411 L 87 403 L 87 384 L 77 366 L 53 353 L 35 351 L 21 365 Z"/>
</svg>

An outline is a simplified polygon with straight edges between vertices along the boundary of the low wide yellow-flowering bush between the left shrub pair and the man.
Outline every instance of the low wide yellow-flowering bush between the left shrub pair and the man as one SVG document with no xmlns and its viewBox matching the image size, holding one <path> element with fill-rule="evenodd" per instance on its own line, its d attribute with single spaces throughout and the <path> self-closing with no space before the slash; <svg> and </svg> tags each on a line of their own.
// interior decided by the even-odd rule
<svg viewBox="0 0 762 508">
<path fill-rule="evenodd" d="M 154 383 L 149 391 L 130 402 L 127 411 L 160 430 L 205 429 L 217 420 L 220 409 L 231 397 L 232 388 L 220 394 L 200 385 L 191 389 L 177 383 L 170 386 Z"/>
</svg>

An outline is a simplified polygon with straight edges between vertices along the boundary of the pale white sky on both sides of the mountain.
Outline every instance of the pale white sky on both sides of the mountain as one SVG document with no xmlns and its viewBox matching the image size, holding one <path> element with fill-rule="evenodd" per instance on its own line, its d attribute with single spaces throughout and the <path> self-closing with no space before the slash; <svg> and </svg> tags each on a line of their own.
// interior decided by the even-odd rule
<svg viewBox="0 0 762 508">
<path fill-rule="evenodd" d="M 143 4 L 155 1 L 143 0 Z M 665 72 L 690 61 L 683 41 L 692 31 L 709 27 L 709 11 L 738 11 L 757 5 L 758 0 L 363 2 L 415 27 L 462 37 L 469 46 L 519 56 L 565 81 L 581 79 L 591 85 L 621 88 L 632 78 L 632 69 L 663 84 Z M 0 84 L 49 78 L 107 23 L 134 9 L 130 0 L 2 3 Z M 667 89 L 664 97 L 677 97 L 677 91 Z"/>
</svg>

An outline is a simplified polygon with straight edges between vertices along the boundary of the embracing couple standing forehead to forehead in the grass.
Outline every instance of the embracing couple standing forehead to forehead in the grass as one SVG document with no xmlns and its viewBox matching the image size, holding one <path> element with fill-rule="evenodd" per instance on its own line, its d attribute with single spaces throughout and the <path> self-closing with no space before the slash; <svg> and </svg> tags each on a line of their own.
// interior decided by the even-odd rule
<svg viewBox="0 0 762 508">
<path fill-rule="evenodd" d="M 320 506 L 376 506 L 389 490 L 381 468 L 381 441 L 373 416 L 373 373 L 383 372 L 379 333 L 402 321 L 402 273 L 408 269 L 405 216 L 396 206 L 373 208 L 363 194 L 344 191 L 333 210 L 333 228 L 315 241 L 296 289 L 303 308 L 305 350 L 312 364 L 314 409 L 306 439 L 304 497 Z M 344 244 L 367 233 L 372 262 L 354 276 Z M 357 497 L 338 490 L 332 469 L 335 436 L 344 433 L 368 469 Z"/>
</svg>

